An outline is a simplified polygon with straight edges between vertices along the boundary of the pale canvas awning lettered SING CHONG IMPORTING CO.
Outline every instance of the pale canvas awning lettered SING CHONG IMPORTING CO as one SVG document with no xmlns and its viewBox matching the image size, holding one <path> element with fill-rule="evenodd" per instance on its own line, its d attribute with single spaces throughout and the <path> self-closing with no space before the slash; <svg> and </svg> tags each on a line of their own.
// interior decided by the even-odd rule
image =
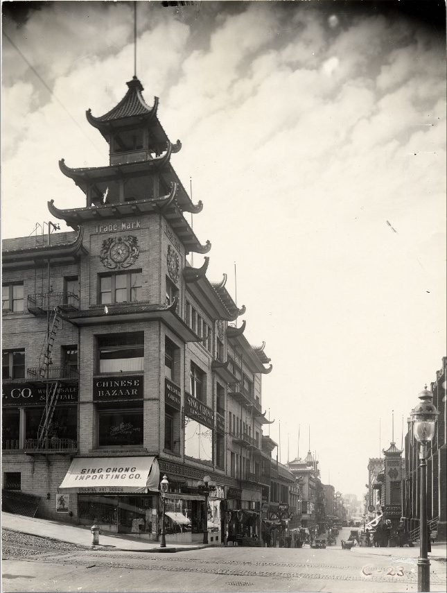
<svg viewBox="0 0 447 593">
<path fill-rule="evenodd" d="M 76 457 L 58 490 L 77 494 L 125 494 L 158 490 L 155 457 Z"/>
</svg>

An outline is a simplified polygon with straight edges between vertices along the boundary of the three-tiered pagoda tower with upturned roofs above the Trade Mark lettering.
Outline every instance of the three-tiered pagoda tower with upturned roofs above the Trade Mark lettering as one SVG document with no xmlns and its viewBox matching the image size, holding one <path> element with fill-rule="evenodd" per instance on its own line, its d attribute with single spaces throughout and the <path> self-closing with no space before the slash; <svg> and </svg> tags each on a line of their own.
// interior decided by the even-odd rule
<svg viewBox="0 0 447 593">
<path fill-rule="evenodd" d="M 184 218 L 184 212 L 198 214 L 202 203 L 192 203 L 170 162 L 182 144 L 179 140 L 173 144 L 161 126 L 157 117 L 159 99 L 155 97 L 149 107 L 136 76 L 127 85 L 123 99 L 106 114 L 94 117 L 91 110 L 86 112 L 87 121 L 109 144 L 109 164 L 73 169 L 64 159 L 59 162 L 62 173 L 84 192 L 86 207 L 62 210 L 51 200 L 49 210 L 75 229 L 95 223 L 98 232 L 113 230 L 116 218 L 120 230 L 126 230 L 122 222 L 128 217 L 161 213 L 186 254 L 207 253 L 211 243 L 202 246 Z M 128 225 L 131 229 L 132 223 Z"/>
</svg>

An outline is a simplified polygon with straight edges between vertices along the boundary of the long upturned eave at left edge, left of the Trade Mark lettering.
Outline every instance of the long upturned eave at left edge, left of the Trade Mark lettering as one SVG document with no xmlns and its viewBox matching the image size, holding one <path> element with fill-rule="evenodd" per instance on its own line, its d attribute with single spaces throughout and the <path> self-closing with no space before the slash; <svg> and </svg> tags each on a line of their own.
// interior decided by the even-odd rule
<svg viewBox="0 0 447 593">
<path fill-rule="evenodd" d="M 76 261 L 80 255 L 87 255 L 87 249 L 82 245 L 84 229 L 78 229 L 78 236 L 71 243 L 59 245 L 39 246 L 25 249 L 5 250 L 2 252 L 3 268 L 12 266 L 35 266 L 40 261 L 51 259 L 53 263 Z"/>
</svg>

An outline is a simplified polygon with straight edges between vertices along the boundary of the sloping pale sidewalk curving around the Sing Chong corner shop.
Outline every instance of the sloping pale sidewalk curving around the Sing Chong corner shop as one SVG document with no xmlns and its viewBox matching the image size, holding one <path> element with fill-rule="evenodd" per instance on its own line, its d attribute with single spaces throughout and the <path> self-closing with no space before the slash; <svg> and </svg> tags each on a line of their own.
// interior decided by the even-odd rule
<svg viewBox="0 0 447 593">
<path fill-rule="evenodd" d="M 35 517 L 24 517 L 24 515 L 12 515 L 12 513 L 1 513 L 1 526 L 13 531 L 28 533 L 29 535 L 40 535 L 43 538 L 51 538 L 71 544 L 78 544 L 96 550 L 132 551 L 132 552 L 179 552 L 198 550 L 206 548 L 206 544 L 179 544 L 177 542 L 166 542 L 166 548 L 161 548 L 159 542 L 141 540 L 126 535 L 100 535 L 98 546 L 91 544 L 91 531 L 89 527 L 67 525 L 58 521 L 48 519 L 36 519 Z"/>
</svg>

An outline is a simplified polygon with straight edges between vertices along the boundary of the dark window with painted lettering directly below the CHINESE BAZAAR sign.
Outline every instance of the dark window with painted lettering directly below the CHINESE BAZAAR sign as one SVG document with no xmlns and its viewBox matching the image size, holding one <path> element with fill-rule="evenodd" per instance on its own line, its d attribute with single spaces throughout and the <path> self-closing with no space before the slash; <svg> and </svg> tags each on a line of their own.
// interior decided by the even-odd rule
<svg viewBox="0 0 447 593">
<path fill-rule="evenodd" d="M 137 447 L 143 445 L 143 404 L 115 404 L 113 409 L 98 406 L 99 447 Z"/>
</svg>

